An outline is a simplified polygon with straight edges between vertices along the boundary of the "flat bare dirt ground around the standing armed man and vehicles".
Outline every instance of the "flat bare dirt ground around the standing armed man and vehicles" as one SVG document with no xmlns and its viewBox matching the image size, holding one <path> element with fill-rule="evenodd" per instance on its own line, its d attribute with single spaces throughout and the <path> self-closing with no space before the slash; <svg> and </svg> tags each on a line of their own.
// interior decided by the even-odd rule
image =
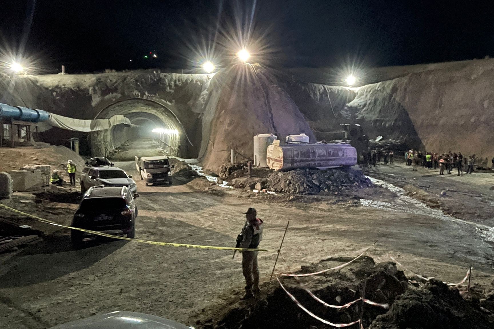
<svg viewBox="0 0 494 329">
<path fill-rule="evenodd" d="M 116 166 L 138 177 L 133 162 Z M 422 171 L 416 174 L 400 166 L 382 167 L 375 175 L 434 180 L 422 178 Z M 469 192 L 478 185 L 488 190 L 489 183 L 473 180 L 476 175 L 480 174 L 463 178 L 468 183 L 460 181 L 454 189 Z M 459 179 L 444 178 L 451 182 Z M 335 203 L 334 198 L 323 196 L 286 202 L 240 189 L 206 192 L 204 182 L 196 185 L 175 180 L 171 186 L 148 187 L 142 181 L 136 183 L 140 194 L 137 238 L 234 246 L 244 223 L 242 213 L 255 207 L 265 223 L 261 248 L 277 249 L 290 221 L 283 248 L 287 263 L 279 262 L 279 271 L 308 266 L 329 256 L 356 256 L 377 240 L 369 252 L 376 261 L 389 261 L 393 256 L 409 270 L 447 282 L 459 282 L 471 263 L 474 283 L 493 281 L 494 251 L 485 235 L 489 231 L 478 229 L 475 223 L 438 216 L 437 210 L 413 204 L 385 188 L 362 189 L 350 202 Z M 9 202 L 65 224 L 70 224 L 76 207 L 49 202 L 21 204 L 20 199 L 33 200 L 33 196 L 16 193 L 15 200 Z M 365 206 L 367 203 L 359 203 L 359 199 L 388 206 Z M 409 211 L 414 208 L 415 212 Z M 36 228 L 44 225 L 32 224 Z M 232 260 L 228 251 L 126 241 L 96 241 L 74 251 L 67 230 L 51 226 L 42 230 L 48 233 L 42 242 L 0 255 L 2 328 L 49 328 L 116 310 L 153 314 L 195 326 L 197 320 L 207 318 L 207 305 L 237 300 L 243 293 L 241 257 Z M 269 281 L 275 257 L 275 253 L 260 253 L 262 282 Z"/>
</svg>

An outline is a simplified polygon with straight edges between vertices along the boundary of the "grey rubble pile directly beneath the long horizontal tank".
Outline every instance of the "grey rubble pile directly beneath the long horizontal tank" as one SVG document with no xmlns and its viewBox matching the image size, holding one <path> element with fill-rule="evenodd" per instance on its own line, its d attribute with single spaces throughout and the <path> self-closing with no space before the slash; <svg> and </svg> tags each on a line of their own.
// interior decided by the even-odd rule
<svg viewBox="0 0 494 329">
<path fill-rule="evenodd" d="M 268 175 L 265 185 L 274 192 L 314 195 L 369 187 L 372 183 L 360 170 L 334 168 L 274 172 Z"/>
</svg>

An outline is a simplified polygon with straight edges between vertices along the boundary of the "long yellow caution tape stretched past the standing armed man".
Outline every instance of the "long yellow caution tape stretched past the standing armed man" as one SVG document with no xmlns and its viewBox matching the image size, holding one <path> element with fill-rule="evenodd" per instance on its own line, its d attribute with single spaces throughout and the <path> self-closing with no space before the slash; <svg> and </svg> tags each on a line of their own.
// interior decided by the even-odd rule
<svg viewBox="0 0 494 329">
<path fill-rule="evenodd" d="M 157 245 L 157 246 L 172 246 L 172 247 L 185 247 L 185 248 L 197 248 L 197 249 L 216 249 L 216 250 L 237 250 L 237 251 L 258 251 L 258 252 L 278 252 L 278 249 L 276 250 L 270 250 L 270 249 L 248 249 L 248 248 L 233 248 L 233 247 L 215 247 L 215 246 L 200 246 L 200 245 L 189 245 L 189 244 L 184 244 L 184 243 L 171 243 L 171 242 L 159 242 L 159 241 L 149 241 L 149 240 L 141 240 L 141 239 L 131 239 L 123 236 L 118 236 L 118 235 L 111 235 L 111 234 L 106 234 L 98 231 L 92 231 L 92 230 L 86 230 L 83 228 L 79 227 L 72 227 L 72 226 L 65 226 L 62 224 L 55 223 L 54 221 L 48 220 L 48 219 L 42 219 L 41 217 L 37 217 L 34 215 L 30 215 L 27 213 L 24 213 L 22 211 L 19 211 L 14 208 L 10 208 L 8 206 L 5 206 L 4 204 L 0 203 L 0 208 L 6 209 L 8 211 L 24 215 L 26 217 L 32 218 L 39 220 L 43 223 L 47 223 L 50 225 L 55 225 L 63 228 L 69 228 L 73 230 L 78 230 L 86 233 L 91 233 L 94 235 L 99 235 L 99 236 L 104 236 L 107 238 L 112 238 L 112 239 L 120 239 L 120 240 L 127 240 L 127 241 L 135 241 L 135 242 L 141 242 L 141 243 L 147 243 L 149 245 Z"/>
</svg>

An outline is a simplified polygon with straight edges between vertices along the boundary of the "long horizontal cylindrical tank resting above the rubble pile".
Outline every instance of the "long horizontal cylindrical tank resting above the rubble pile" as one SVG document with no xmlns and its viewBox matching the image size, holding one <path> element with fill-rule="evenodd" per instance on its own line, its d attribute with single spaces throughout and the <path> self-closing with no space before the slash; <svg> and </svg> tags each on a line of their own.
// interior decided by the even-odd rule
<svg viewBox="0 0 494 329">
<path fill-rule="evenodd" d="M 357 164 L 357 150 L 349 144 L 283 144 L 267 148 L 267 164 L 274 170 L 334 168 Z"/>
</svg>

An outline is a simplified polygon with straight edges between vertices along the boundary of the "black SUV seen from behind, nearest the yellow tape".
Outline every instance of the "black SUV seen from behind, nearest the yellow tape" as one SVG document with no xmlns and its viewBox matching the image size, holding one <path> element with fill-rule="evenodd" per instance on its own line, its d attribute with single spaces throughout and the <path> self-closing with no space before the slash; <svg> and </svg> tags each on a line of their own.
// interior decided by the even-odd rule
<svg viewBox="0 0 494 329">
<path fill-rule="evenodd" d="M 133 194 L 126 186 L 90 187 L 82 196 L 81 205 L 72 219 L 72 227 L 108 234 L 124 234 L 127 238 L 134 238 L 137 217 L 135 198 L 138 196 L 139 194 Z M 71 230 L 74 249 L 82 247 L 82 239 L 87 234 Z"/>
</svg>

